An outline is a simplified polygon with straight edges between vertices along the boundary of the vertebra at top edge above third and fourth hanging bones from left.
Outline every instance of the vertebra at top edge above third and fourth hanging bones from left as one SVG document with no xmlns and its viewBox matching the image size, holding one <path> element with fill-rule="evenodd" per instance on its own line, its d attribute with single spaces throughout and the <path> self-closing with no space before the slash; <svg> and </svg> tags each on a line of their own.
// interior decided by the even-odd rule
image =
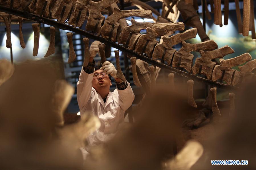
<svg viewBox="0 0 256 170">
<path fill-rule="evenodd" d="M 45 2 L 46 0 L 37 0 L 35 14 L 41 15 Z M 50 16 L 50 11 L 52 11 L 55 3 L 55 0 L 47 0 L 46 7 L 42 13 L 44 17 L 48 18 Z"/>
</svg>

